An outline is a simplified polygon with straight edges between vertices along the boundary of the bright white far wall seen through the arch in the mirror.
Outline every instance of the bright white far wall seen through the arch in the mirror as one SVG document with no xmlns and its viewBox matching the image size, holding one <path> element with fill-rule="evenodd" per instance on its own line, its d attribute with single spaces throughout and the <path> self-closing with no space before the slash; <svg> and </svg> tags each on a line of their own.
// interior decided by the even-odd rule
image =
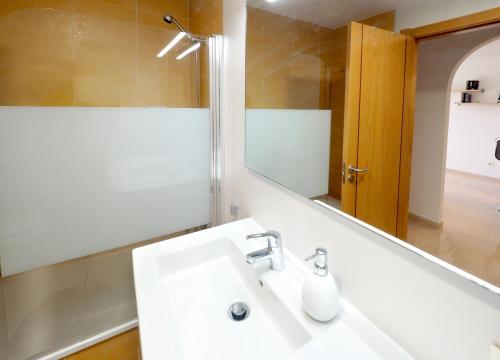
<svg viewBox="0 0 500 360">
<path fill-rule="evenodd" d="M 473 52 L 455 73 L 452 89 L 464 89 L 467 80 L 479 80 L 485 91 L 472 95 L 473 102 L 483 104 L 462 106 L 455 104 L 461 94 L 451 94 L 448 169 L 500 178 L 500 160 L 495 158 L 495 140 L 500 138 L 500 104 L 496 104 L 500 92 L 499 64 L 500 39 Z"/>
</svg>

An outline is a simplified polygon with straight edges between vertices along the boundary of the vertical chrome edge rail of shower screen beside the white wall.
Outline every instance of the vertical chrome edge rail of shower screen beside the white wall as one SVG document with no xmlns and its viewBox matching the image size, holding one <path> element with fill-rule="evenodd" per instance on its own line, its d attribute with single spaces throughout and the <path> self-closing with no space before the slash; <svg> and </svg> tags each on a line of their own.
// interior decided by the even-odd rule
<svg viewBox="0 0 500 360">
<path fill-rule="evenodd" d="M 212 35 L 208 40 L 210 81 L 210 224 L 221 221 L 221 67 L 223 37 Z"/>
</svg>

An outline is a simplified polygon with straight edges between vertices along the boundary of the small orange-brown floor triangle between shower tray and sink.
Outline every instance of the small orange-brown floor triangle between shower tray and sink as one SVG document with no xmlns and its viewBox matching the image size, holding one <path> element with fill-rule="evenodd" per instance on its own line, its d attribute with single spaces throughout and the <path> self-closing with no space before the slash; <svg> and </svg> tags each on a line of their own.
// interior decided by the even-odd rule
<svg viewBox="0 0 500 360">
<path fill-rule="evenodd" d="M 63 360 L 139 360 L 139 331 L 133 329 Z"/>
</svg>

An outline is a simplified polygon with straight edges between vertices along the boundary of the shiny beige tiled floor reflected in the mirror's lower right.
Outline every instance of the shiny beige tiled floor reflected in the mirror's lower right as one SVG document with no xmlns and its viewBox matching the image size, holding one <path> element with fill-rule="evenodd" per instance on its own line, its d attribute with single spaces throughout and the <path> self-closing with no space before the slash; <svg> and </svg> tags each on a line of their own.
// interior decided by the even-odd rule
<svg viewBox="0 0 500 360">
<path fill-rule="evenodd" d="M 500 286 L 500 180 L 447 171 L 443 227 L 410 219 L 408 242 Z"/>
</svg>

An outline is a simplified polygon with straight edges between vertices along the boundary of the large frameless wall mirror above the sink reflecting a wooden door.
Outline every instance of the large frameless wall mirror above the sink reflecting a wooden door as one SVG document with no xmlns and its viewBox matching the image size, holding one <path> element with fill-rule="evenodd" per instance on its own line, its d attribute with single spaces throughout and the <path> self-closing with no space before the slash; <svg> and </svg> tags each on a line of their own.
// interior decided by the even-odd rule
<svg viewBox="0 0 500 360">
<path fill-rule="evenodd" d="M 499 287 L 498 64 L 500 1 L 248 0 L 246 165 Z"/>
</svg>

